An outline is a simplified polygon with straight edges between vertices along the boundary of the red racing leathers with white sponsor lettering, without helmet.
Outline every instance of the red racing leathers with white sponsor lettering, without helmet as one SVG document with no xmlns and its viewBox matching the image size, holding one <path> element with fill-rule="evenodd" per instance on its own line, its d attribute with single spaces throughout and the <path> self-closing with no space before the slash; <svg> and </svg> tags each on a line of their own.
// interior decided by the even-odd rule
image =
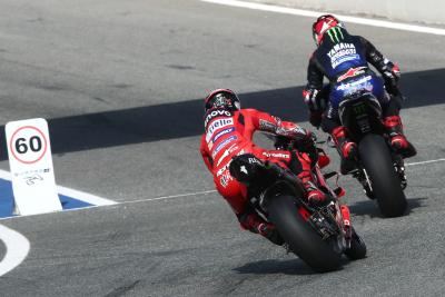
<svg viewBox="0 0 445 297">
<path fill-rule="evenodd" d="M 237 111 L 210 109 L 205 118 L 205 133 L 201 137 L 200 152 L 214 176 L 218 192 L 229 202 L 241 227 L 261 234 L 257 227 L 264 220 L 255 212 L 246 216 L 249 211 L 247 188 L 230 176 L 228 167 L 231 158 L 237 155 L 253 154 L 263 161 L 273 161 L 281 167 L 291 168 L 293 171 L 300 171 L 298 177 L 304 184 L 305 181 L 312 184 L 312 177 L 309 174 L 310 159 L 307 154 L 259 148 L 253 142 L 253 135 L 256 130 L 290 137 L 301 140 L 301 142 L 312 140 L 312 133 L 301 127 L 289 121 L 281 121 L 266 112 L 255 109 Z"/>
</svg>

